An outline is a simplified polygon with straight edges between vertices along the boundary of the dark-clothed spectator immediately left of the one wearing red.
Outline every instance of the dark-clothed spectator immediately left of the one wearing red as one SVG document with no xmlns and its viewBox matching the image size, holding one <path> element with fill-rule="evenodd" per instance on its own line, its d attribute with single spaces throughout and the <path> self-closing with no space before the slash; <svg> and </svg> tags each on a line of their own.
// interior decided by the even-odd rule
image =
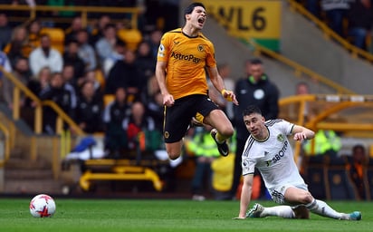
<svg viewBox="0 0 373 232">
<path fill-rule="evenodd" d="M 122 123 L 129 116 L 130 106 L 126 102 L 127 92 L 119 87 L 115 92 L 115 100 L 110 102 L 104 110 L 105 124 L 105 156 L 119 159 L 121 152 L 128 149 L 127 131 Z"/>
</svg>

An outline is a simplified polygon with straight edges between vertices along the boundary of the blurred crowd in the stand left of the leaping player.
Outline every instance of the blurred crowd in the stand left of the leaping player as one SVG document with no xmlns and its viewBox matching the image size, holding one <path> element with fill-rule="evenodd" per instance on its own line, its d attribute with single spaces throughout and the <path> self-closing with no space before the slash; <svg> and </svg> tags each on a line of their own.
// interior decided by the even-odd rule
<svg viewBox="0 0 373 232">
<path fill-rule="evenodd" d="M 90 13 L 85 25 L 79 12 L 38 12 L 32 21 L 17 23 L 10 19 L 30 13 L 0 11 L 0 65 L 42 101 L 60 106 L 82 131 L 104 134 L 108 155 L 157 150 L 163 104 L 154 70 L 161 35 L 178 25 L 177 17 L 167 20 L 177 14 L 173 2 L 0 1 L 140 9 L 138 28 L 129 26 L 127 13 Z M 159 24 L 161 14 L 166 16 Z M 13 110 L 14 83 L 4 73 L 0 78 L 1 102 Z M 36 102 L 21 94 L 20 104 L 21 117 L 33 128 Z M 56 132 L 56 119 L 55 111 L 43 107 L 43 133 Z"/>
</svg>

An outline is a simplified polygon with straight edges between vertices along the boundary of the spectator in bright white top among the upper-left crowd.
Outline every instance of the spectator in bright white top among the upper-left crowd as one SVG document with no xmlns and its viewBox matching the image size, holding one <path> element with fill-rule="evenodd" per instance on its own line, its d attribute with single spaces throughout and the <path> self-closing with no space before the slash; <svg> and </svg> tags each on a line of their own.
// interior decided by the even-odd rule
<svg viewBox="0 0 373 232">
<path fill-rule="evenodd" d="M 62 55 L 51 47 L 51 38 L 48 34 L 42 35 L 40 47 L 30 53 L 29 63 L 33 75 L 39 73 L 43 67 L 49 67 L 52 73 L 62 72 Z"/>
</svg>

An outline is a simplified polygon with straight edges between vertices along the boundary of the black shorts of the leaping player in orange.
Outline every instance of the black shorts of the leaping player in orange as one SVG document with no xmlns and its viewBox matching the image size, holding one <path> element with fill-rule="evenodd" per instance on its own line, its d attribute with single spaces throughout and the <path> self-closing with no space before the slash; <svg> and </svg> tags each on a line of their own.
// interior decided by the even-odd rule
<svg viewBox="0 0 373 232">
<path fill-rule="evenodd" d="M 172 107 L 166 107 L 163 137 L 165 142 L 177 142 L 186 134 L 187 128 L 197 113 L 206 117 L 218 106 L 207 96 L 195 94 L 175 101 Z"/>
</svg>

